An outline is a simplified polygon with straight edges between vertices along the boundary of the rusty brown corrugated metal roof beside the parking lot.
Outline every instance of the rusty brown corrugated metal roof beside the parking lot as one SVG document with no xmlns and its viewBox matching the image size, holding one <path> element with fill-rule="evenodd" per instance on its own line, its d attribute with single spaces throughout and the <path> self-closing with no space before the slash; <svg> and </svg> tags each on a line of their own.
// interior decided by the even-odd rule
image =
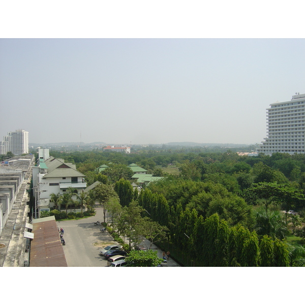
<svg viewBox="0 0 305 305">
<path fill-rule="evenodd" d="M 68 267 L 64 249 L 60 242 L 55 218 L 33 221 L 34 238 L 29 256 L 30 267 Z"/>
</svg>

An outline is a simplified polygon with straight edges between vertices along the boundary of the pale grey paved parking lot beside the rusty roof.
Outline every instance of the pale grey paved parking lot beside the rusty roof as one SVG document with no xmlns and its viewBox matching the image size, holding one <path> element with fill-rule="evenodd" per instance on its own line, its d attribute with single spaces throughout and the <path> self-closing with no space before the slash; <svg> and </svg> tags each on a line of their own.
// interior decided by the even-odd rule
<svg viewBox="0 0 305 305">
<path fill-rule="evenodd" d="M 108 233 L 101 233 L 101 226 L 94 222 L 103 221 L 103 208 L 96 207 L 96 216 L 69 221 L 57 221 L 58 228 L 64 228 L 63 246 L 68 267 L 103 267 L 107 260 L 100 256 L 105 246 L 116 243 Z"/>
</svg>

